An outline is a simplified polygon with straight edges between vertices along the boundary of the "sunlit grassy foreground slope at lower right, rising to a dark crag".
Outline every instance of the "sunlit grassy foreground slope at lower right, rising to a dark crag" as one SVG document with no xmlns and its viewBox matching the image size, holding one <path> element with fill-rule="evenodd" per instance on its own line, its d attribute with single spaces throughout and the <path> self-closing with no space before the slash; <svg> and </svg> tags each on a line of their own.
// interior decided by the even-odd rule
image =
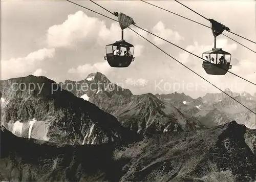
<svg viewBox="0 0 256 182">
<path fill-rule="evenodd" d="M 115 158 L 131 159 L 121 181 L 255 181 L 256 154 L 251 148 L 256 142 L 250 141 L 255 137 L 255 130 L 233 121 L 156 135 L 119 151 Z"/>
</svg>

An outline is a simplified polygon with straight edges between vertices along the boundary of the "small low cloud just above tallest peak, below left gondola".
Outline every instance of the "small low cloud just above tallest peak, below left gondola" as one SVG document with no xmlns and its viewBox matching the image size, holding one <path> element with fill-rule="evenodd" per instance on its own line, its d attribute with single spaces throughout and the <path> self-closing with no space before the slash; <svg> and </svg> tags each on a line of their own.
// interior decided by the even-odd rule
<svg viewBox="0 0 256 182">
<path fill-rule="evenodd" d="M 104 62 L 97 62 L 94 64 L 83 64 L 76 67 L 76 69 L 73 67 L 72 69 L 68 70 L 68 73 L 71 74 L 78 74 L 80 77 L 87 76 L 90 73 L 93 72 L 101 72 L 106 74 L 111 70 L 111 67 L 107 61 Z"/>
</svg>

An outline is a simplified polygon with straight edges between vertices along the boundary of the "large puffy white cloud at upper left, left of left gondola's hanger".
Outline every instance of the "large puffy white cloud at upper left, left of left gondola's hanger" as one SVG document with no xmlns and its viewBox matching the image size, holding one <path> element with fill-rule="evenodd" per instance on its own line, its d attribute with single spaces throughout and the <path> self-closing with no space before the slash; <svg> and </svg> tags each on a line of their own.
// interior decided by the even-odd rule
<svg viewBox="0 0 256 182">
<path fill-rule="evenodd" d="M 49 47 L 70 47 L 81 40 L 95 40 L 105 24 L 98 18 L 89 17 L 82 11 L 68 15 L 68 19 L 60 25 L 48 29 L 47 43 Z"/>
</svg>

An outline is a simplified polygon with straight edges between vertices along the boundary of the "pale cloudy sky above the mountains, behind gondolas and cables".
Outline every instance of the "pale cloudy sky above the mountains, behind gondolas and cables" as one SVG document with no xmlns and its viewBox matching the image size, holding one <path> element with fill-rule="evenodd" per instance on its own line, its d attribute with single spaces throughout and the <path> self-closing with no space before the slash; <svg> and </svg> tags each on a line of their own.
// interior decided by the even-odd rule
<svg viewBox="0 0 256 182">
<path fill-rule="evenodd" d="M 90 1 L 74 1 L 104 15 L 115 16 Z M 175 1 L 147 1 L 204 25 L 210 22 Z M 122 12 L 136 25 L 202 57 L 211 50 L 210 29 L 141 1 L 96 1 L 111 12 Z M 207 18 L 215 19 L 232 32 L 256 41 L 255 1 L 181 1 Z M 130 28 L 155 43 L 220 89 L 256 93 L 256 86 L 230 73 L 207 75 L 202 59 L 154 37 L 133 25 Z M 256 51 L 256 44 L 224 31 L 225 35 Z M 121 39 L 118 22 L 66 1 L 1 1 L 1 80 L 33 74 L 56 82 L 83 80 L 100 72 L 111 82 L 129 88 L 133 94 L 185 93 L 193 98 L 220 92 L 187 70 L 154 45 L 129 29 L 124 39 L 134 45 L 135 61 L 126 68 L 114 68 L 104 60 L 105 45 Z M 231 53 L 232 69 L 256 83 L 256 54 L 220 35 L 217 48 Z"/>
</svg>

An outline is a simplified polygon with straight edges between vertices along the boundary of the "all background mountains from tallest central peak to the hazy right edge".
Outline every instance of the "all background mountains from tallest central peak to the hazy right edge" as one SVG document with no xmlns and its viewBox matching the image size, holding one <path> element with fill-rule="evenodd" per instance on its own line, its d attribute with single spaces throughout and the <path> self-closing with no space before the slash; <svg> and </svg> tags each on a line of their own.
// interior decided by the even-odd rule
<svg viewBox="0 0 256 182">
<path fill-rule="evenodd" d="M 75 85 L 82 83 L 94 85 L 94 87 L 91 86 L 91 89 L 88 87 L 82 92 L 78 88 L 79 92 L 75 92 Z M 229 96 L 224 93 L 211 93 L 196 99 L 177 92 L 166 95 L 156 94 L 155 96 L 151 93 L 133 95 L 129 89 L 111 83 L 105 75 L 99 72 L 92 73 L 86 79 L 78 82 L 66 80 L 61 84 L 63 88 L 73 85 L 73 89 L 70 91 L 74 95 L 86 98 L 100 109 L 115 116 L 124 127 L 137 130 L 138 133 L 151 130 L 148 128 L 149 126 L 154 128 L 154 132 L 166 131 L 166 127 L 173 124 L 166 123 L 164 120 L 170 121 L 171 118 L 182 130 L 218 126 L 232 120 L 245 124 L 248 128 L 256 127 L 255 114 L 229 96 L 255 111 L 256 97 L 246 92 L 232 93 L 228 88 L 224 92 Z M 105 87 L 103 88 L 102 85 Z"/>
</svg>

